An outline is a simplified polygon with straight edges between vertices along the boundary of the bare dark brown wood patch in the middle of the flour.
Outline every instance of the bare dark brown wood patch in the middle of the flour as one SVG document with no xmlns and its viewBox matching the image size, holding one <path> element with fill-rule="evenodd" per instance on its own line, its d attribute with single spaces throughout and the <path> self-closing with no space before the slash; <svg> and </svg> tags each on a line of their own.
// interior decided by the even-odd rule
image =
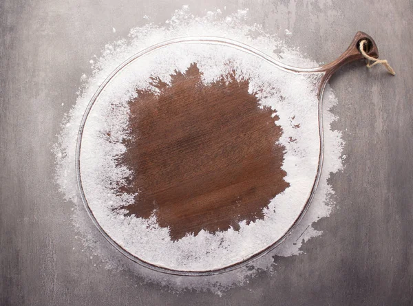
<svg viewBox="0 0 413 306">
<path fill-rule="evenodd" d="M 155 215 L 174 240 L 200 230 L 239 229 L 289 185 L 276 112 L 262 107 L 236 72 L 209 85 L 193 63 L 153 77 L 160 94 L 138 91 L 129 102 L 129 135 L 119 164 L 134 173 L 119 193 L 136 194 L 127 215 Z"/>
</svg>

